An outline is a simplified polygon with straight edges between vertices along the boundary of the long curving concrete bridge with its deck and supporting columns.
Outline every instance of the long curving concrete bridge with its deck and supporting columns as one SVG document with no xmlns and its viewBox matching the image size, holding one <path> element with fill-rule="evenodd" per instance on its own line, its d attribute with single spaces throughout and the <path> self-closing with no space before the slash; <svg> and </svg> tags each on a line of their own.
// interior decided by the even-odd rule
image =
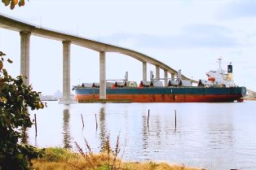
<svg viewBox="0 0 256 170">
<path fill-rule="evenodd" d="M 139 53 L 135 50 L 129 50 L 120 46 L 113 46 L 99 41 L 90 40 L 86 37 L 78 37 L 67 33 L 61 33 L 49 28 L 42 28 L 37 25 L 29 24 L 21 20 L 13 19 L 6 15 L 0 15 L 0 28 L 20 32 L 20 74 L 27 76 L 25 84 L 29 85 L 29 42 L 30 36 L 45 37 L 48 39 L 62 41 L 63 44 L 63 97 L 60 103 L 70 104 L 73 103 L 73 98 L 70 98 L 70 45 L 83 46 L 90 50 L 99 52 L 99 98 L 106 99 L 106 53 L 115 52 L 126 54 L 134 59 L 138 59 L 143 65 L 143 81 L 147 81 L 147 63 L 156 66 L 156 78 L 160 78 L 160 69 L 165 72 L 165 84 L 167 85 L 168 73 L 171 78 L 178 73 L 173 68 L 170 68 L 165 63 L 161 63 L 157 59 Z M 188 77 L 183 76 L 183 79 L 190 80 Z M 193 81 L 196 82 L 196 81 Z"/>
</svg>

